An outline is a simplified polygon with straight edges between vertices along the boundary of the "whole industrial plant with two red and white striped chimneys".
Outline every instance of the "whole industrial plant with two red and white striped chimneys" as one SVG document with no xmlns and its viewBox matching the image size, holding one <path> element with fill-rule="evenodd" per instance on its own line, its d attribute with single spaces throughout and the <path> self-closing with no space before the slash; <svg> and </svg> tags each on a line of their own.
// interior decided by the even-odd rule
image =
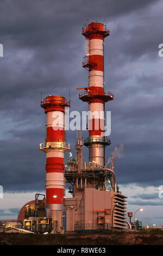
<svg viewBox="0 0 163 256">
<path fill-rule="evenodd" d="M 104 39 L 110 33 L 102 23 L 92 22 L 83 26 L 82 34 L 86 40 L 83 68 L 89 72 L 89 84 L 77 89 L 84 90 L 79 99 L 89 104 L 89 136 L 84 139 L 82 131 L 77 131 L 76 159 L 70 154 L 65 163 L 65 153 L 70 151 L 65 107 L 70 107 L 70 100 L 55 95 L 41 100 L 46 115 L 46 138 L 40 144 L 46 155 L 46 195 L 39 200 L 36 194 L 35 200 L 26 203 L 18 215 L 18 221 L 23 221 L 23 227 L 28 226 L 31 231 L 33 225 L 37 230 L 42 225 L 46 227 L 43 231 L 53 233 L 124 230 L 128 226 L 127 197 L 117 186 L 113 157 L 109 168 L 105 163 L 105 148 L 111 144 L 104 132 L 105 103 L 114 100 L 114 95 L 104 90 Z M 89 148 L 86 162 L 83 162 L 84 146 Z M 65 196 L 66 182 L 70 198 Z"/>
</svg>

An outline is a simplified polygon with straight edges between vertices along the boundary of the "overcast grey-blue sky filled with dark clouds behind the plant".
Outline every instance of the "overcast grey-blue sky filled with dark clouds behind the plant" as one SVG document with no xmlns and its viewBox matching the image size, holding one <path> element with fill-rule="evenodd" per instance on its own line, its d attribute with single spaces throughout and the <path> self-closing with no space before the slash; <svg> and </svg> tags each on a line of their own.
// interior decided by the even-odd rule
<svg viewBox="0 0 163 256">
<path fill-rule="evenodd" d="M 85 22 L 104 22 L 105 90 L 114 93 L 111 111 L 112 144 L 123 149 L 114 167 L 128 211 L 143 225 L 163 225 L 162 82 L 163 3 L 156 0 L 2 0 L 0 3 L 0 218 L 17 218 L 21 206 L 44 191 L 45 116 L 41 92 L 69 97 L 71 109 L 87 110 L 76 88 L 85 87 L 82 62 Z M 74 154 L 75 132 L 67 132 Z M 84 132 L 86 137 L 87 133 Z M 88 151 L 84 150 L 84 160 Z M 139 215 L 139 216 L 138 216 Z"/>
</svg>

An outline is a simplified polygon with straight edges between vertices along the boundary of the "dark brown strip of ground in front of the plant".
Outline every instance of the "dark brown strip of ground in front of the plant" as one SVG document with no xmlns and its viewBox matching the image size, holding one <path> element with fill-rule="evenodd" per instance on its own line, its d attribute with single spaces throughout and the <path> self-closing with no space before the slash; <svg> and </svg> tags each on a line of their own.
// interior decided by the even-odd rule
<svg viewBox="0 0 163 256">
<path fill-rule="evenodd" d="M 69 234 L 0 233 L 0 245 L 163 245 L 163 231 Z"/>
</svg>

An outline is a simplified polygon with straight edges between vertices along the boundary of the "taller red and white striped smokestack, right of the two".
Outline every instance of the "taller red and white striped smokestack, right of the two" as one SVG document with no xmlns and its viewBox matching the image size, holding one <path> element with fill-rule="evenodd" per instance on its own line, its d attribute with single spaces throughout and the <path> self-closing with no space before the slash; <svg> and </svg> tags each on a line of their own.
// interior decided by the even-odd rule
<svg viewBox="0 0 163 256">
<path fill-rule="evenodd" d="M 109 29 L 102 23 L 92 22 L 83 26 L 82 34 L 87 46 L 83 68 L 89 70 L 89 87 L 79 94 L 79 99 L 89 103 L 90 111 L 89 138 L 84 140 L 84 145 L 89 148 L 89 161 L 104 167 L 105 147 L 111 143 L 104 136 L 104 105 L 114 98 L 112 93 L 104 92 L 104 38 L 109 35 Z"/>
</svg>

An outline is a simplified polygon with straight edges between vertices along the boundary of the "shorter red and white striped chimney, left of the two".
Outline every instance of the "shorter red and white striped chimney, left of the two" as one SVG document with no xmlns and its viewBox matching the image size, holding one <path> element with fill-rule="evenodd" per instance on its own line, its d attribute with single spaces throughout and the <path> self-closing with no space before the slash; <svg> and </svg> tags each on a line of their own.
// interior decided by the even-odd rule
<svg viewBox="0 0 163 256">
<path fill-rule="evenodd" d="M 70 101 L 62 96 L 47 96 L 41 100 L 46 114 L 46 139 L 40 144 L 40 150 L 46 153 L 46 208 L 62 211 L 64 204 L 64 155 L 70 150 L 65 142 L 65 107 Z M 58 217 L 58 221 L 61 217 Z"/>
</svg>

